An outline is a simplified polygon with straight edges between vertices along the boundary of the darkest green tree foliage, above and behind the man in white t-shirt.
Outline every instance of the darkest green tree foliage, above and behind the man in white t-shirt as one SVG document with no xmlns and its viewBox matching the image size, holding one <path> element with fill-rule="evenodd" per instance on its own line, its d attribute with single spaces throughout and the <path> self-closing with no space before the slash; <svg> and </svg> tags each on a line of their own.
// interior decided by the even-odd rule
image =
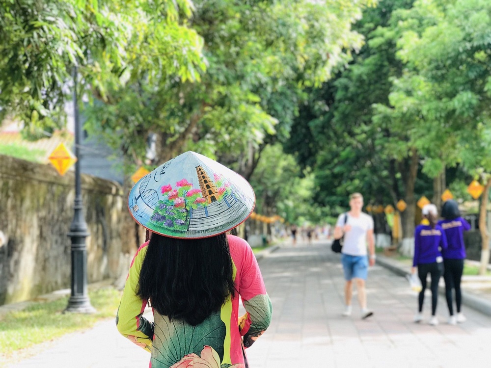
<svg viewBox="0 0 491 368">
<path fill-rule="evenodd" d="M 405 191 L 402 173 L 408 173 L 407 149 L 399 159 L 382 144 L 390 129 L 373 124 L 374 104 L 388 104 L 391 79 L 402 73 L 396 44 L 382 38 L 394 9 L 409 8 L 412 1 L 381 1 L 368 8 L 355 29 L 366 44 L 350 66 L 335 79 L 309 94 L 308 105 L 292 128 L 286 148 L 299 163 L 315 165 L 319 196 L 327 205 L 346 206 L 349 193 L 361 191 L 379 203 L 397 202 Z M 387 123 L 387 125 L 390 124 Z M 417 169 L 417 167 L 416 167 Z"/>
</svg>

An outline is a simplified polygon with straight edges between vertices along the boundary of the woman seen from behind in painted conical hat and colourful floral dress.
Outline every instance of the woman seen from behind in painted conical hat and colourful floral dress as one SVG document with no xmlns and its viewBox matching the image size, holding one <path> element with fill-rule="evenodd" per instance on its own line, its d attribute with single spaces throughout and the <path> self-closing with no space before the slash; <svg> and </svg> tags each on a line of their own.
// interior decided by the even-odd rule
<svg viewBox="0 0 491 368">
<path fill-rule="evenodd" d="M 128 205 L 151 235 L 130 266 L 118 331 L 151 352 L 152 368 L 248 367 L 245 348 L 272 306 L 250 246 L 226 233 L 251 213 L 250 185 L 187 152 L 136 183 Z M 147 303 L 154 322 L 142 316 Z"/>
</svg>

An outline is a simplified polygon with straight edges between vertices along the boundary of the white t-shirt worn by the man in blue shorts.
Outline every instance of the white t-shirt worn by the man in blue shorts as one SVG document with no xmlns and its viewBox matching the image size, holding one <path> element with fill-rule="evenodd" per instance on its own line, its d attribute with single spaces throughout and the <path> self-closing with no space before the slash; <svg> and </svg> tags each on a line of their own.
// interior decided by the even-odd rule
<svg viewBox="0 0 491 368">
<path fill-rule="evenodd" d="M 344 235 L 342 253 L 350 256 L 366 256 L 367 255 L 367 231 L 373 229 L 372 216 L 361 212 L 359 217 L 348 215 L 347 225 L 351 225 L 351 230 Z M 344 213 L 341 213 L 336 222 L 336 226 L 344 227 Z"/>
</svg>

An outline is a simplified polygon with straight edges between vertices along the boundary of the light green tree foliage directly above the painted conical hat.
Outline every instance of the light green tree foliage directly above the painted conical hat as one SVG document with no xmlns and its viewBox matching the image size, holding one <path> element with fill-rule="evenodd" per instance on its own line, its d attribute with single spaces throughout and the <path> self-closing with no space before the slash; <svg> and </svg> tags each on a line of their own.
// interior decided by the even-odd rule
<svg viewBox="0 0 491 368">
<path fill-rule="evenodd" d="M 133 162 L 154 133 L 155 162 L 193 149 L 239 162 L 249 177 L 265 142 L 288 135 L 305 88 L 360 47 L 351 25 L 367 2 L 195 1 L 185 24 L 203 40 L 199 82 L 143 73 L 114 84 L 90 108 L 87 127 Z"/>
</svg>

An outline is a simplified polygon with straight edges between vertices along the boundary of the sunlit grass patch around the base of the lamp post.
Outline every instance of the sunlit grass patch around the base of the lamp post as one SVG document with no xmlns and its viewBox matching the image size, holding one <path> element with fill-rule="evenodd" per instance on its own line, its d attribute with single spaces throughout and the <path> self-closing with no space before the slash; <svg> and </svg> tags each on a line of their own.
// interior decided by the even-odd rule
<svg viewBox="0 0 491 368">
<path fill-rule="evenodd" d="M 121 291 L 104 288 L 89 291 L 95 314 L 62 313 L 68 296 L 50 302 L 38 302 L 0 317 L 0 354 L 46 342 L 67 333 L 92 327 L 97 321 L 115 318 Z"/>
</svg>

